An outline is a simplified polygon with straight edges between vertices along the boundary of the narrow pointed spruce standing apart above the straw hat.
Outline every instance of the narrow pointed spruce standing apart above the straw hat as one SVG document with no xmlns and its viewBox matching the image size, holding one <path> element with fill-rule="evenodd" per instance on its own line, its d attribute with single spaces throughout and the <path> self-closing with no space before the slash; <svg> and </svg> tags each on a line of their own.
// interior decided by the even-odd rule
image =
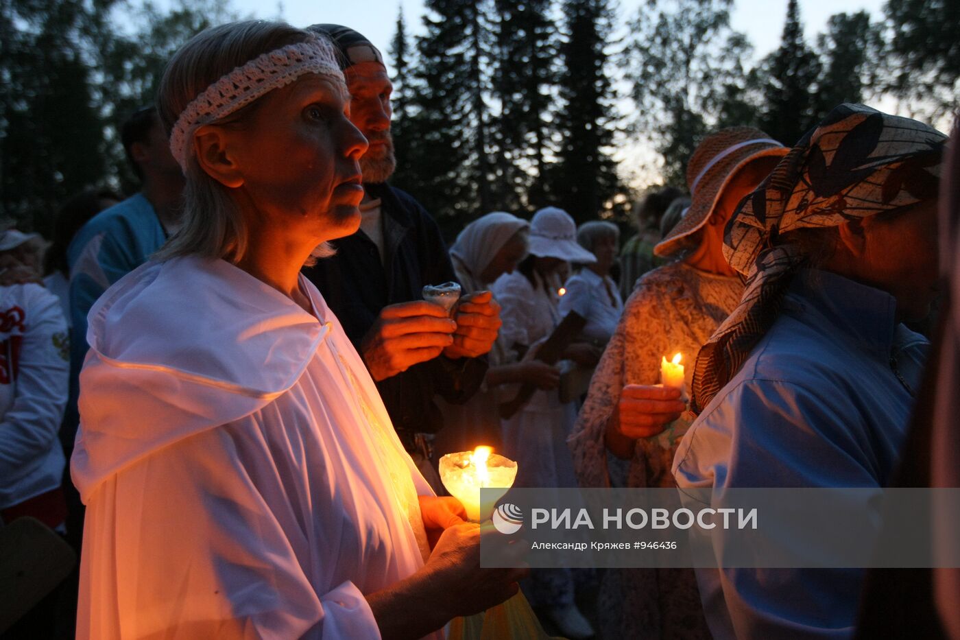
<svg viewBox="0 0 960 640">
<path fill-rule="evenodd" d="M 817 86 L 822 65 L 804 41 L 797 0 L 787 5 L 780 48 L 762 65 L 763 131 L 792 146 L 820 119 Z"/>
</svg>

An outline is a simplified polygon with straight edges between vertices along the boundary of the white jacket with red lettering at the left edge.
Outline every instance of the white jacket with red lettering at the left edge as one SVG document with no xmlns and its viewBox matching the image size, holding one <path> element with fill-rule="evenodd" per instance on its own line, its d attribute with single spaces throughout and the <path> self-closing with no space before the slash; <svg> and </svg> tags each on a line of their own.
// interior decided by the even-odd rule
<svg viewBox="0 0 960 640">
<path fill-rule="evenodd" d="M 60 486 L 69 359 L 57 298 L 39 284 L 0 286 L 0 509 Z"/>
</svg>

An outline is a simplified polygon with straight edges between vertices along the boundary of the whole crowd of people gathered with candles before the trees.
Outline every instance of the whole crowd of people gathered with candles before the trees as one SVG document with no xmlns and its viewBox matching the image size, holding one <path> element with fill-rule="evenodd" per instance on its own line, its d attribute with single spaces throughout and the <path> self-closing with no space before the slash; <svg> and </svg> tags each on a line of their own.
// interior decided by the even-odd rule
<svg viewBox="0 0 960 640">
<path fill-rule="evenodd" d="M 522 588 L 568 638 L 852 637 L 862 570 L 481 568 L 437 464 L 488 444 L 516 486 L 716 491 L 928 464 L 902 455 L 929 347 L 903 323 L 956 288 L 947 136 L 852 104 L 801 140 L 726 128 L 622 250 L 550 206 L 448 249 L 388 182 L 391 89 L 348 27 L 212 27 L 119 132 L 138 193 L 0 236 L 0 536 L 36 518 L 80 558 L 0 636 L 444 637 Z M 914 421 L 945 486 L 950 419 Z M 943 637 L 958 581 L 930 587 Z"/>
</svg>

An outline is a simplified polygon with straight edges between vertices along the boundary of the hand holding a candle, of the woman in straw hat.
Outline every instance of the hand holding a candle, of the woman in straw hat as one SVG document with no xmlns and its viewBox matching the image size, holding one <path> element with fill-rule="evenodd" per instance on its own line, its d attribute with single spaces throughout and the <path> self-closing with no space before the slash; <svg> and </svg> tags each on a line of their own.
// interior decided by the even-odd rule
<svg viewBox="0 0 960 640">
<path fill-rule="evenodd" d="M 607 423 L 607 448 L 624 459 L 634 455 L 636 438 L 648 438 L 666 429 L 686 409 L 681 389 L 654 384 L 627 384 Z"/>
</svg>

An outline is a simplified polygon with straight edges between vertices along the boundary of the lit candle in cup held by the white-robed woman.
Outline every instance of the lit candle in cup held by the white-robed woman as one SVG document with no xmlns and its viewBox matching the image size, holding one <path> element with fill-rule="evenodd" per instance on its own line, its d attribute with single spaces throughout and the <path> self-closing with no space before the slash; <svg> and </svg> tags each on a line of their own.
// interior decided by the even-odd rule
<svg viewBox="0 0 960 640">
<path fill-rule="evenodd" d="M 477 447 L 471 452 L 462 451 L 440 458 L 440 479 L 450 495 L 467 509 L 472 522 L 490 517 L 489 513 L 480 512 L 480 489 L 502 489 L 492 500 L 492 507 L 516 479 L 516 462 L 492 451 L 490 447 Z"/>
</svg>

